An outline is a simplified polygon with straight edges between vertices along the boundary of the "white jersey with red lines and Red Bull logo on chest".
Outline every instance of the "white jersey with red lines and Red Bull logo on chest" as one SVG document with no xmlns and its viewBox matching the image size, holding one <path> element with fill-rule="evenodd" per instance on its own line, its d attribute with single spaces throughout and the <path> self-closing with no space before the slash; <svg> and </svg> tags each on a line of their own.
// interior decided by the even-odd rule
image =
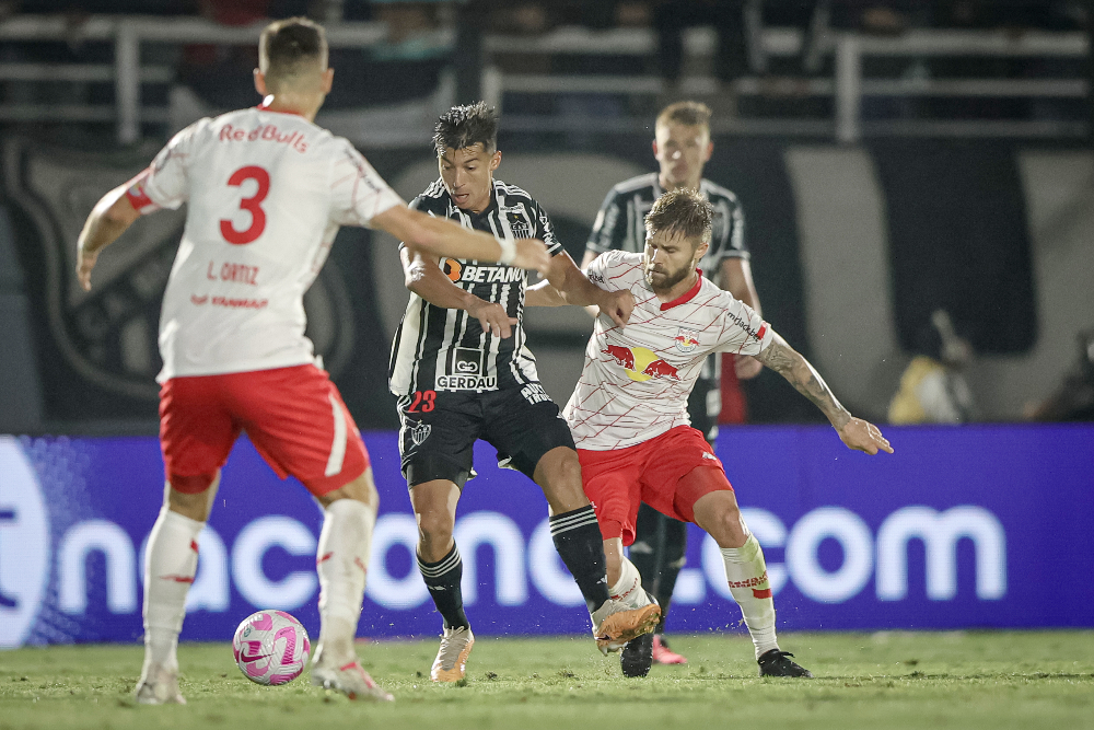
<svg viewBox="0 0 1094 730">
<path fill-rule="evenodd" d="M 596 320 L 585 367 L 566 405 L 579 449 L 626 449 L 688 426 L 687 398 L 711 352 L 757 355 L 771 328 L 748 305 L 699 277 L 679 299 L 662 302 L 645 281 L 642 254 L 609 251 L 587 270 L 608 291 L 629 289 L 635 311 L 624 328 Z"/>
</svg>

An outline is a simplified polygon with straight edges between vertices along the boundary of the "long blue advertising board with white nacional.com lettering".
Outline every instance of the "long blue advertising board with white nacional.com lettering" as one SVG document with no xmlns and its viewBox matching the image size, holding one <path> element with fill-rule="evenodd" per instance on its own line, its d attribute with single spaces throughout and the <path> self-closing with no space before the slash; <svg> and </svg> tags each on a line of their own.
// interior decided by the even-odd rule
<svg viewBox="0 0 1094 730">
<path fill-rule="evenodd" d="M 1094 427 L 888 428 L 895 455 L 821 427 L 723 429 L 718 453 L 764 545 L 780 629 L 1094 626 Z M 365 433 L 381 491 L 362 636 L 440 617 L 414 563 L 396 434 Z M 538 487 L 486 444 L 459 503 L 478 634 L 580 634 L 581 595 Z M 136 641 L 160 509 L 154 438 L 0 437 L 0 646 Z M 183 639 L 226 640 L 258 609 L 318 629 L 322 514 L 241 439 L 202 532 Z M 713 541 L 690 528 L 668 629 L 741 630 Z"/>
</svg>

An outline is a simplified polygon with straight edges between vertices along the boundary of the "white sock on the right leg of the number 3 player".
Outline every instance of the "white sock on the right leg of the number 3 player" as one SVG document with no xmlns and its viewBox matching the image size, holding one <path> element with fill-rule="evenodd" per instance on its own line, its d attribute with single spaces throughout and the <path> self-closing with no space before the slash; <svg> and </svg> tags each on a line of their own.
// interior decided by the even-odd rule
<svg viewBox="0 0 1094 730">
<path fill-rule="evenodd" d="M 375 508 L 356 499 L 337 499 L 323 510 L 315 558 L 319 573 L 319 647 L 339 665 L 356 657 L 353 637 L 364 601 L 375 524 Z"/>
</svg>

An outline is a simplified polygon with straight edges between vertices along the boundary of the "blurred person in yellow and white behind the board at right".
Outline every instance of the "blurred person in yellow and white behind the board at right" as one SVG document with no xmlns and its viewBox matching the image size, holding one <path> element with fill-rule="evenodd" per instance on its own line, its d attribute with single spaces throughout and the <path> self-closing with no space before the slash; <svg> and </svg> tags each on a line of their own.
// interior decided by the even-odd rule
<svg viewBox="0 0 1094 730">
<path fill-rule="evenodd" d="M 889 403 L 891 424 L 966 424 L 973 419 L 973 394 L 962 371 L 973 347 L 958 337 L 945 310 L 935 310 L 924 326 L 919 354 L 900 376 Z"/>
</svg>

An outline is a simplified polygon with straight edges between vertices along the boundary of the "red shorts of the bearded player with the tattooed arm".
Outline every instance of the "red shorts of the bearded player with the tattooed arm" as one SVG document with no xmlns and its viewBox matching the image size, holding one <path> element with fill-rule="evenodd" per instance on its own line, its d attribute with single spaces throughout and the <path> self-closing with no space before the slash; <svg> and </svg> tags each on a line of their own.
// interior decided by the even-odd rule
<svg viewBox="0 0 1094 730">
<path fill-rule="evenodd" d="M 690 426 L 677 426 L 627 449 L 578 449 L 578 460 L 601 534 L 604 540 L 622 537 L 624 545 L 635 542 L 635 520 L 641 502 L 676 520 L 695 522 L 695 503 L 700 497 L 733 491 L 722 462 L 702 433 Z M 696 468 L 708 472 L 708 478 L 680 484 Z"/>
</svg>

